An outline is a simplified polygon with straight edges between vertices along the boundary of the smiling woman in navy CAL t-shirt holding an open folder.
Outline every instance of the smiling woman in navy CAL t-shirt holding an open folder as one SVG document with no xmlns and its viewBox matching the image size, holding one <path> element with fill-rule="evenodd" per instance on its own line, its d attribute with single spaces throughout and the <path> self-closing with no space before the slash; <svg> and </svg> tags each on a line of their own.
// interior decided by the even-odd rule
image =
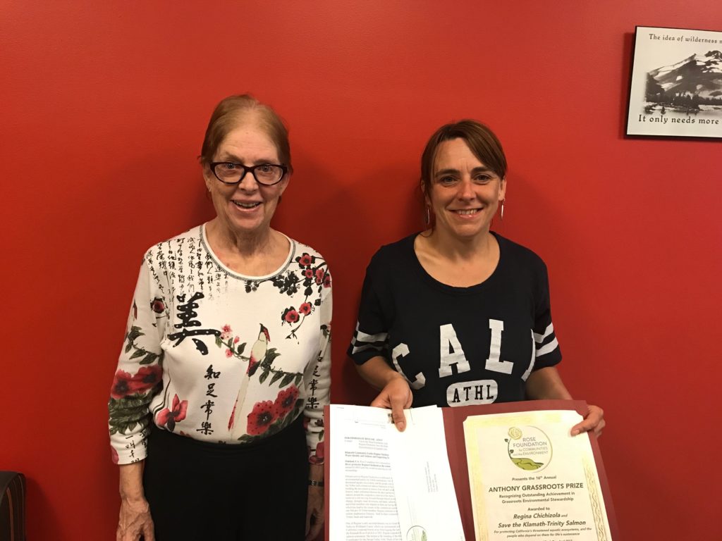
<svg viewBox="0 0 722 541">
<path fill-rule="evenodd" d="M 544 262 L 490 232 L 506 158 L 474 120 L 443 126 L 421 159 L 428 229 L 381 247 L 366 271 L 349 356 L 391 408 L 569 399 Z M 433 219 L 432 219 L 433 218 Z M 604 427 L 590 406 L 572 434 Z"/>
</svg>

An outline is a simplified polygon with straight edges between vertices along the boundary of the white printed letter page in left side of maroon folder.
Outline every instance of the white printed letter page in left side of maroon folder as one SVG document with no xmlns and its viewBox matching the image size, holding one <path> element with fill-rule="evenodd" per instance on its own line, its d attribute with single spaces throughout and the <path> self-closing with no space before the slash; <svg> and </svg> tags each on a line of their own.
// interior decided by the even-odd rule
<svg viewBox="0 0 722 541">
<path fill-rule="evenodd" d="M 332 541 L 464 541 L 436 406 L 389 411 L 331 405 L 329 535 Z"/>
</svg>

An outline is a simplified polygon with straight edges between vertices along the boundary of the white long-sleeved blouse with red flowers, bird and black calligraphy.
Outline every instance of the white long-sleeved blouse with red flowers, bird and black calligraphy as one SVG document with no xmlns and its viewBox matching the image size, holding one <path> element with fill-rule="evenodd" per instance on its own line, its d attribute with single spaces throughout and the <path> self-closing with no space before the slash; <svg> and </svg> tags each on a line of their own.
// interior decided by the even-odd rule
<svg viewBox="0 0 722 541">
<path fill-rule="evenodd" d="M 318 252 L 289 242 L 269 276 L 225 267 L 202 225 L 146 252 L 108 403 L 114 462 L 145 458 L 151 420 L 245 444 L 302 411 L 310 462 L 323 462 L 331 274 Z"/>
</svg>

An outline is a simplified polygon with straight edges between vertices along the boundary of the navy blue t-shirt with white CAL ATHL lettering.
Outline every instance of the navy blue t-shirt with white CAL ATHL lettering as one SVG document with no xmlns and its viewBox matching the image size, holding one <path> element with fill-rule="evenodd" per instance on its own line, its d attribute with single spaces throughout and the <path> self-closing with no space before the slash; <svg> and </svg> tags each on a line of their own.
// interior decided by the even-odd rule
<svg viewBox="0 0 722 541">
<path fill-rule="evenodd" d="M 432 278 L 414 252 L 417 234 L 381 247 L 366 269 L 349 356 L 383 356 L 409 381 L 414 407 L 524 400 L 531 371 L 562 359 L 546 265 L 493 234 L 499 263 L 476 286 Z"/>
</svg>

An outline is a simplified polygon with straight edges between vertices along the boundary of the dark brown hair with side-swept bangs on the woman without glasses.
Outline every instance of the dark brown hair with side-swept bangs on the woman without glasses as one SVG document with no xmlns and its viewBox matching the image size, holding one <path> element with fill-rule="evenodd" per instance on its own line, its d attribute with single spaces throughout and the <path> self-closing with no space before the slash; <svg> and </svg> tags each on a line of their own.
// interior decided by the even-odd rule
<svg viewBox="0 0 722 541">
<path fill-rule="evenodd" d="M 421 155 L 421 180 L 419 182 L 422 195 L 431 192 L 436 151 L 444 141 L 464 139 L 472 154 L 479 161 L 495 172 L 500 179 L 506 177 L 506 157 L 501 143 L 488 126 L 477 120 L 459 120 L 441 126 L 429 139 L 424 153 Z"/>
</svg>

